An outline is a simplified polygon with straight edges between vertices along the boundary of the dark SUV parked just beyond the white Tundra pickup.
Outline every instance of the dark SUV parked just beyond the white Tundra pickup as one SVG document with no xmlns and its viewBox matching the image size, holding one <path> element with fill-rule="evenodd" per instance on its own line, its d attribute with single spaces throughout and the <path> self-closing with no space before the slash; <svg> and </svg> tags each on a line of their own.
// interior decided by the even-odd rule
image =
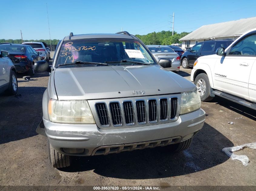
<svg viewBox="0 0 256 191">
<path fill-rule="evenodd" d="M 181 65 L 183 68 L 193 67 L 198 57 L 215 54 L 218 48 L 227 48 L 232 42 L 233 40 L 208 40 L 197 43 L 181 56 Z"/>
</svg>

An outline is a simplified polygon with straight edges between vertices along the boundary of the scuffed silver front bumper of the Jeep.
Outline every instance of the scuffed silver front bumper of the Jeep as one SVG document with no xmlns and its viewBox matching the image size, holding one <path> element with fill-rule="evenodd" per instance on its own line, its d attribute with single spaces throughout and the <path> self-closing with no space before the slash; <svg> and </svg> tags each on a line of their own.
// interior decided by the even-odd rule
<svg viewBox="0 0 256 191">
<path fill-rule="evenodd" d="M 96 124 L 53 123 L 46 119 L 43 122 L 45 134 L 55 150 L 65 153 L 62 148 L 84 148 L 84 153 L 68 155 L 91 156 L 101 147 L 149 144 L 155 140 L 164 142 L 171 139 L 175 141 L 168 144 L 178 143 L 194 136 L 203 127 L 204 120 L 205 112 L 199 109 L 180 115 L 175 122 L 120 129 L 99 129 Z M 159 143 L 158 146 L 165 145 Z"/>
</svg>

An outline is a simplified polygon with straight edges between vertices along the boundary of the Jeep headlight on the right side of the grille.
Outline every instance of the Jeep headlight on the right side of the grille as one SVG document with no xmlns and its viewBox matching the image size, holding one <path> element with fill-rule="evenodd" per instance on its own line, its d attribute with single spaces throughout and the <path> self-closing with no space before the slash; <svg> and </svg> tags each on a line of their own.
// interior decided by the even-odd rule
<svg viewBox="0 0 256 191">
<path fill-rule="evenodd" d="M 197 88 L 193 91 L 181 93 L 180 114 L 198 110 L 201 107 L 201 99 Z"/>
</svg>

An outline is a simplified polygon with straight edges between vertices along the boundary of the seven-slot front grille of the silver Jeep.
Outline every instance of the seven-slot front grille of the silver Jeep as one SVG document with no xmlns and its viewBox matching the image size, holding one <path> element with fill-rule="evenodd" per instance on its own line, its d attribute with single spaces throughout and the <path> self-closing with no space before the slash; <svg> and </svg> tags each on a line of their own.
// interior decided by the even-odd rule
<svg viewBox="0 0 256 191">
<path fill-rule="evenodd" d="M 89 100 L 94 104 L 93 115 L 98 116 L 99 127 L 117 128 L 127 126 L 146 126 L 176 121 L 179 115 L 181 95 L 135 97 Z M 92 106 L 92 105 L 91 105 Z"/>
</svg>

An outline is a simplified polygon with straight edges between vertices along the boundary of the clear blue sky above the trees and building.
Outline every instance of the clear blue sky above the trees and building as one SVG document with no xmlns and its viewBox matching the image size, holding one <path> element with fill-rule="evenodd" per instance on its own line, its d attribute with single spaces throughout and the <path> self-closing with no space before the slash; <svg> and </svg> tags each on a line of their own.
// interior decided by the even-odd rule
<svg viewBox="0 0 256 191">
<path fill-rule="evenodd" d="M 190 32 L 205 24 L 255 17 L 254 0 L 171 1 L 171 0 L 8 0 L 1 3 L 0 39 L 62 39 L 70 32 L 131 34 L 174 30 Z"/>
</svg>

